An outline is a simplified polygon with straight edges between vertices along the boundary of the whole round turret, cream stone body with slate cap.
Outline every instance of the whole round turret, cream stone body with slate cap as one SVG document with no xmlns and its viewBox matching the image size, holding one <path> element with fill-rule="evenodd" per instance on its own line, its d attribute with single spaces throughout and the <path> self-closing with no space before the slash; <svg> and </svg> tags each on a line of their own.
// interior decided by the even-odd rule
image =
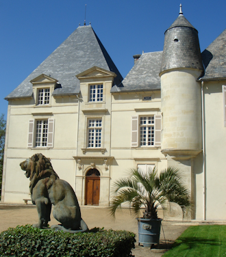
<svg viewBox="0 0 226 257">
<path fill-rule="evenodd" d="M 162 57 L 162 152 L 188 158 L 202 148 L 201 87 L 203 72 L 198 31 L 179 17 L 165 32 Z"/>
</svg>

